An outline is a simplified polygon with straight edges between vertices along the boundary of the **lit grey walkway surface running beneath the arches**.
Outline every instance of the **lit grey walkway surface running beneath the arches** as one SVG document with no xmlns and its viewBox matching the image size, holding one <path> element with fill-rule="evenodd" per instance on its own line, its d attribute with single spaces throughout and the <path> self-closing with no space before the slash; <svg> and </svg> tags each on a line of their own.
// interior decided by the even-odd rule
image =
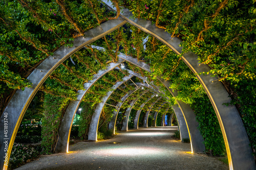
<svg viewBox="0 0 256 170">
<path fill-rule="evenodd" d="M 39 157 L 17 169 L 228 169 L 214 157 L 191 154 L 190 144 L 171 136 L 177 128 L 119 132 L 108 140 L 78 142 L 69 153 Z"/>
</svg>

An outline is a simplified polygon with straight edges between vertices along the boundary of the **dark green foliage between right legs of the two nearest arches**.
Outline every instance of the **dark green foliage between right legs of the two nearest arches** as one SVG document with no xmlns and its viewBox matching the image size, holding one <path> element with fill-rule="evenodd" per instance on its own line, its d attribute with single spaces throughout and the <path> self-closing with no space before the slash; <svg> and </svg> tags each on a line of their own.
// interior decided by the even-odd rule
<svg viewBox="0 0 256 170">
<path fill-rule="evenodd" d="M 199 130 L 204 138 L 206 151 L 212 151 L 213 155 L 224 156 L 226 154 L 225 143 L 221 133 L 214 108 L 206 95 L 198 98 L 196 103 L 191 105 L 196 114 Z"/>
</svg>

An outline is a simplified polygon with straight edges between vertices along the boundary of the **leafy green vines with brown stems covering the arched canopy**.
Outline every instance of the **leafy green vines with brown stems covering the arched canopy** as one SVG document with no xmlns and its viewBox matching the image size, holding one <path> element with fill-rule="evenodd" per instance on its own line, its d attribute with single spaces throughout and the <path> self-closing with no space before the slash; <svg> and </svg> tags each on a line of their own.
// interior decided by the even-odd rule
<svg viewBox="0 0 256 170">
<path fill-rule="evenodd" d="M 218 77 L 232 101 L 225 105 L 235 105 L 246 128 L 253 154 L 256 148 L 256 8 L 255 1 L 112 1 L 117 12 L 109 10 L 99 1 L 2 1 L 0 3 L 0 111 L 12 98 L 17 89 L 32 87 L 27 77 L 48 56 L 60 46 L 72 46 L 74 38 L 84 36 L 84 32 L 99 26 L 106 20 L 116 19 L 122 7 L 132 11 L 134 17 L 152 20 L 158 28 L 165 29 L 172 37 L 182 39 L 183 51 L 192 51 L 198 55 L 200 63 L 207 64 L 211 70 L 200 74 L 212 74 Z M 147 42 L 143 44 L 143 40 Z M 104 47 L 98 51 L 91 45 Z M 146 45 L 146 49 L 144 49 Z M 129 24 L 103 36 L 72 55 L 58 66 L 40 87 L 44 99 L 43 141 L 46 152 L 54 151 L 58 138 L 60 119 L 70 101 L 76 100 L 77 91 L 90 81 L 93 75 L 104 69 L 109 63 L 118 61 L 123 53 L 137 58 L 151 66 L 151 73 L 131 63 L 126 67 L 147 77 L 149 84 L 162 86 L 162 99 L 156 103 L 152 112 L 157 111 L 163 102 L 168 101 L 159 111 L 163 113 L 168 105 L 176 100 L 189 104 L 195 111 L 199 129 L 204 137 L 206 150 L 214 155 L 224 155 L 225 145 L 218 120 L 202 85 L 196 75 L 166 45 L 151 35 Z M 156 79 L 172 82 L 170 88 L 177 90 L 172 96 Z M 87 92 L 81 108 L 79 136 L 86 138 L 89 123 L 95 106 L 111 87 L 127 72 L 112 70 Z M 113 92 L 101 113 L 99 130 L 108 129 L 116 105 L 121 97 L 133 89 L 134 82 L 143 80 L 133 78 Z M 151 95 L 150 91 L 142 95 L 135 103 L 135 110 Z M 132 100 L 139 97 L 136 91 L 123 104 L 129 107 Z M 250 94 L 250 95 L 248 95 Z M 54 100 L 54 102 L 52 102 Z M 154 99 L 144 107 L 143 113 L 151 107 Z M 202 105 L 204 107 L 202 107 Z M 207 106 L 207 107 L 206 107 Z M 86 109 L 87 108 L 87 109 Z M 52 118 L 55 117 L 55 118 Z M 58 123 L 55 123 L 55 122 Z M 54 126 L 53 126 L 54 125 Z M 49 126 L 49 127 L 48 127 Z M 48 135 L 50 131 L 54 131 Z M 215 134 L 216 136 L 208 135 Z M 43 144 L 44 144 L 43 142 Z"/>
</svg>

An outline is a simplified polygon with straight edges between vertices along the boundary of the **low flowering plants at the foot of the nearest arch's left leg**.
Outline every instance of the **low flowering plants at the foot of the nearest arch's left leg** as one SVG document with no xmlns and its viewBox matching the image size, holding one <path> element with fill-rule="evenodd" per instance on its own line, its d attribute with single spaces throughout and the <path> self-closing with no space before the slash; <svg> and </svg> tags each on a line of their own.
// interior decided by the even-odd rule
<svg viewBox="0 0 256 170">
<path fill-rule="evenodd" d="M 14 169 L 22 164 L 25 164 L 27 160 L 36 158 L 39 155 L 38 150 L 40 150 L 40 147 L 29 148 L 24 144 L 14 143 L 8 168 Z"/>
</svg>

